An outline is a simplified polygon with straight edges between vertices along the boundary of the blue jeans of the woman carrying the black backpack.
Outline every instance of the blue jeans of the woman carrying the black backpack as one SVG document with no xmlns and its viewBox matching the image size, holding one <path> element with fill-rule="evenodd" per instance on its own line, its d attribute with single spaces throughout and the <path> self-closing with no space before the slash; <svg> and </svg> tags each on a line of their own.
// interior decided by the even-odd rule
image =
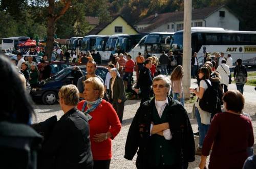
<svg viewBox="0 0 256 169">
<path fill-rule="evenodd" d="M 203 148 L 204 137 L 205 137 L 210 125 L 201 123 L 201 117 L 199 114 L 199 110 L 197 108 L 196 108 L 196 119 L 197 119 L 198 130 L 199 130 L 199 147 Z"/>
</svg>

